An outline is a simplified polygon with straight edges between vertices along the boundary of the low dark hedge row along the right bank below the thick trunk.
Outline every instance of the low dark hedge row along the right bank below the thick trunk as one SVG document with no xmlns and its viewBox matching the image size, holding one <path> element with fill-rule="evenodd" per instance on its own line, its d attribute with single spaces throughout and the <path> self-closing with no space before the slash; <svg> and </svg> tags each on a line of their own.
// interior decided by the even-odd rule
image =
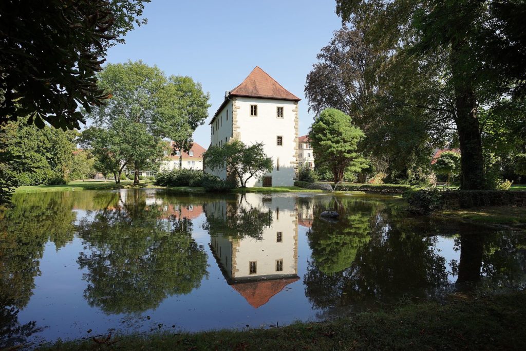
<svg viewBox="0 0 526 351">
<path fill-rule="evenodd" d="M 510 190 L 418 190 L 404 193 L 409 211 L 431 214 L 442 208 L 526 206 L 525 191 Z"/>
</svg>

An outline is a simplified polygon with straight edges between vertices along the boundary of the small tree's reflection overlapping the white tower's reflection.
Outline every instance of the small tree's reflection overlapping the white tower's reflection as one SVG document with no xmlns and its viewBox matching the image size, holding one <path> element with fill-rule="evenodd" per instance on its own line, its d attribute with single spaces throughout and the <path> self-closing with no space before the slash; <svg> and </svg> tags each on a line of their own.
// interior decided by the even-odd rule
<svg viewBox="0 0 526 351">
<path fill-rule="evenodd" d="M 246 236 L 261 240 L 264 229 L 272 225 L 270 209 L 250 204 L 245 195 L 221 199 L 206 205 L 204 228 L 211 236 L 222 235 L 242 239 Z"/>
</svg>

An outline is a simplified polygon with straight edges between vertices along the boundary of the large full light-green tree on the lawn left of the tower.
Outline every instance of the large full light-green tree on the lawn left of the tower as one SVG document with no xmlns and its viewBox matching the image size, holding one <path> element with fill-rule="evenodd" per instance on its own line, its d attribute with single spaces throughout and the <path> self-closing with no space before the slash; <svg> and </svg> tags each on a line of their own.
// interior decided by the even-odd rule
<svg viewBox="0 0 526 351">
<path fill-rule="evenodd" d="M 93 108 L 89 116 L 97 127 L 109 132 L 108 145 L 119 151 L 115 155 L 122 162 L 120 171 L 124 166 L 134 167 L 134 185 L 138 185 L 139 170 L 154 167 L 163 159 L 163 138 L 191 130 L 188 115 L 181 108 L 187 104 L 176 95 L 174 77 L 168 79 L 158 67 L 141 61 L 108 64 L 97 77 L 98 85 L 112 97 Z"/>
</svg>

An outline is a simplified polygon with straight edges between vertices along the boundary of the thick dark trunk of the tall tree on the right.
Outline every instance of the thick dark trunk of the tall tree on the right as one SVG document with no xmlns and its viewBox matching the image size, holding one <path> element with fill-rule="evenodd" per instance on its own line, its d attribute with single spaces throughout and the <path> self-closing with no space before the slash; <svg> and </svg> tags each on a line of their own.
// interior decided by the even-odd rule
<svg viewBox="0 0 526 351">
<path fill-rule="evenodd" d="M 461 175 L 460 187 L 462 189 L 483 189 L 484 160 L 482 156 L 482 141 L 480 125 L 477 116 L 477 97 L 470 84 L 470 77 L 461 71 L 463 51 L 466 46 L 453 46 L 451 53 L 451 73 L 455 94 L 455 123 L 460 141 Z"/>
</svg>

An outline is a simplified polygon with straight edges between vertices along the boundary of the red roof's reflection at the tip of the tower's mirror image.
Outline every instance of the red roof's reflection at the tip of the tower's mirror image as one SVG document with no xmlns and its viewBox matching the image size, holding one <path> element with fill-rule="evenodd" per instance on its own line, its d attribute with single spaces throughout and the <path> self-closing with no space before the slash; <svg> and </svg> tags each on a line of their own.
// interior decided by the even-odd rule
<svg viewBox="0 0 526 351">
<path fill-rule="evenodd" d="M 236 283 L 232 287 L 244 297 L 250 306 L 258 308 L 265 305 L 268 300 L 290 283 L 296 282 L 299 278 L 258 280 L 257 282 Z"/>
</svg>

